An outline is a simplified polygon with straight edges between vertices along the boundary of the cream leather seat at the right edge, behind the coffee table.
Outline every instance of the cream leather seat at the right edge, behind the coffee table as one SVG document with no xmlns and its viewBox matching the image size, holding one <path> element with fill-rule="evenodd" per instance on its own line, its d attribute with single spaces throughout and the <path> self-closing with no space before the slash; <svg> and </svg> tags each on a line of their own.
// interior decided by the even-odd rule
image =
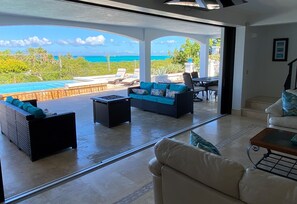
<svg viewBox="0 0 297 204">
<path fill-rule="evenodd" d="M 265 109 L 267 126 L 297 132 L 297 116 L 283 116 L 282 99 Z"/>
</svg>

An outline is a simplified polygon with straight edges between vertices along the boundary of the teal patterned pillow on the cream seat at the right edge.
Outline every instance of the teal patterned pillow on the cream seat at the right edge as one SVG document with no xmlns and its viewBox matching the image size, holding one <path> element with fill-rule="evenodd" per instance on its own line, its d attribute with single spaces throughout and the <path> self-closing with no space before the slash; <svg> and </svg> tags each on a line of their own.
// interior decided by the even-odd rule
<svg viewBox="0 0 297 204">
<path fill-rule="evenodd" d="M 282 105 L 284 116 L 297 116 L 297 96 L 295 94 L 283 91 Z"/>
</svg>

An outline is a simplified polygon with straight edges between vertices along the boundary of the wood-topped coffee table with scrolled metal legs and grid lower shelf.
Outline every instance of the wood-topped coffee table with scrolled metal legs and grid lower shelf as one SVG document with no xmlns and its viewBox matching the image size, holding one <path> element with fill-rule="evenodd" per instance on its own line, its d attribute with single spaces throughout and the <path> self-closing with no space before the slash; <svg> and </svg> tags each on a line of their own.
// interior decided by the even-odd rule
<svg viewBox="0 0 297 204">
<path fill-rule="evenodd" d="M 250 139 L 247 154 L 257 169 L 279 176 L 297 180 L 297 146 L 291 143 L 294 132 L 265 128 Z M 250 150 L 266 148 L 267 153 L 256 163 L 250 156 Z"/>
</svg>

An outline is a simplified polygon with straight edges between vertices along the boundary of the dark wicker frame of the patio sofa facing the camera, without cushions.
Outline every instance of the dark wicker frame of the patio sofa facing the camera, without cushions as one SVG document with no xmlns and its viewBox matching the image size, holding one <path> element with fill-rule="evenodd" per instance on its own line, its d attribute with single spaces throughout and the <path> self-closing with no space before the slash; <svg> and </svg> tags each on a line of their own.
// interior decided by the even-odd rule
<svg viewBox="0 0 297 204">
<path fill-rule="evenodd" d="M 128 96 L 133 93 L 132 89 L 139 89 L 140 86 L 129 87 Z M 174 104 L 163 104 L 150 100 L 130 98 L 131 106 L 154 113 L 179 118 L 186 113 L 193 113 L 193 91 L 186 91 L 175 94 Z"/>
</svg>

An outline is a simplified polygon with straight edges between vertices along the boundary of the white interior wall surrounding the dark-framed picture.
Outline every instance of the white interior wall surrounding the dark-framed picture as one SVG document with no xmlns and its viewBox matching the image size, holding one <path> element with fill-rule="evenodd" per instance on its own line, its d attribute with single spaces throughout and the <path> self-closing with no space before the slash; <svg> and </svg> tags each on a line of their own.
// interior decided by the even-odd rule
<svg viewBox="0 0 297 204">
<path fill-rule="evenodd" d="M 274 38 L 289 38 L 288 61 L 272 61 Z M 297 24 L 247 27 L 244 59 L 244 96 L 279 97 L 288 63 L 297 58 Z"/>
</svg>

